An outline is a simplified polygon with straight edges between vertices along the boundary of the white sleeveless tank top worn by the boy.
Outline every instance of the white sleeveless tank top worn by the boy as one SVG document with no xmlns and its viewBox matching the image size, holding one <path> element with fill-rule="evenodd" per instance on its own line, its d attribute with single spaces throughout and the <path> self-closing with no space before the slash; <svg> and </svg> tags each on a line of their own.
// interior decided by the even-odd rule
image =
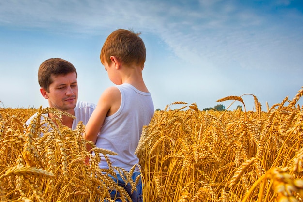
<svg viewBox="0 0 303 202">
<path fill-rule="evenodd" d="M 129 171 L 139 163 L 134 153 L 143 126 L 152 119 L 154 106 L 151 93 L 139 91 L 127 83 L 116 87 L 121 92 L 120 108 L 115 114 L 106 117 L 96 146 L 116 152 L 118 155 L 109 155 L 112 165 Z M 108 168 L 103 155 L 99 166 Z"/>
</svg>

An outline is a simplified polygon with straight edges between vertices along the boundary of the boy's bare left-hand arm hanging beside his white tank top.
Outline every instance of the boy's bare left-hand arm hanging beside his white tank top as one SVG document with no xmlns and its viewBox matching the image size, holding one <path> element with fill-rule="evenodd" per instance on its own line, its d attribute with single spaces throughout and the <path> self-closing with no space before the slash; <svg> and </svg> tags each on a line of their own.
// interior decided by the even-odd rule
<svg viewBox="0 0 303 202">
<path fill-rule="evenodd" d="M 107 88 L 100 96 L 96 109 L 91 114 L 88 123 L 85 126 L 83 137 L 96 143 L 97 135 L 104 123 L 106 116 L 114 114 L 120 107 L 121 93 L 117 87 Z M 87 150 L 91 147 L 87 145 Z"/>
</svg>

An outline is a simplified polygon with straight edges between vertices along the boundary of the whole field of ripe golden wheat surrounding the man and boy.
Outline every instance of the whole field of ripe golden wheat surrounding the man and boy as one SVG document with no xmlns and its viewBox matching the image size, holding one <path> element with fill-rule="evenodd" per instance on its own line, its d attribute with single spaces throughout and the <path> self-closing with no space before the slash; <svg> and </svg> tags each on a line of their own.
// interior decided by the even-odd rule
<svg viewBox="0 0 303 202">
<path fill-rule="evenodd" d="M 253 111 L 246 111 L 242 96 L 218 102 L 241 102 L 243 111 L 201 111 L 185 102 L 155 111 L 136 149 L 144 202 L 302 202 L 303 106 L 297 104 L 302 95 L 303 87 L 293 99 L 267 109 L 250 95 Z M 39 116 L 26 126 L 35 112 Z M 107 176 L 114 174 L 109 158 L 108 169 L 98 167 L 98 154 L 116 154 L 91 142 L 97 155 L 88 153 L 81 123 L 71 130 L 60 119 L 46 118 L 53 130 L 43 128 L 40 115 L 47 112 L 66 115 L 52 108 L 0 108 L 0 202 L 114 201 L 113 188 L 130 201 Z M 132 171 L 115 169 L 136 184 Z"/>
</svg>

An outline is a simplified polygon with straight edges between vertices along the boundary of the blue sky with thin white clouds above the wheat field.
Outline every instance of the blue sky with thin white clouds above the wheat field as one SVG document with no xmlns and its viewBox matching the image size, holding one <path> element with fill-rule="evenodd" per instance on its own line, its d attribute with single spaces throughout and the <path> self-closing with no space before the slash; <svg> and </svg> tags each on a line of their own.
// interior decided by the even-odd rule
<svg viewBox="0 0 303 202">
<path fill-rule="evenodd" d="M 55 57 L 75 65 L 78 99 L 96 103 L 113 85 L 100 50 L 119 28 L 141 32 L 155 109 L 176 101 L 227 108 L 231 102 L 216 100 L 254 94 L 266 110 L 303 86 L 301 0 L 5 0 L 0 106 L 47 107 L 37 70 Z M 254 110 L 253 97 L 242 98 Z"/>
</svg>

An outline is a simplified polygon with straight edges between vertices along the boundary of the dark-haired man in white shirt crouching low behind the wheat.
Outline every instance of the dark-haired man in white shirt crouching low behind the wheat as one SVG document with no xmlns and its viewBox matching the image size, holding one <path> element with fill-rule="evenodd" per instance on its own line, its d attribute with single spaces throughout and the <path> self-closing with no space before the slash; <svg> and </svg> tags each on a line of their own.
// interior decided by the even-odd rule
<svg viewBox="0 0 303 202">
<path fill-rule="evenodd" d="M 38 82 L 41 87 L 40 93 L 48 100 L 49 107 L 67 112 L 76 117 L 76 119 L 73 119 L 63 115 L 61 119 L 63 125 L 76 129 L 79 121 L 82 121 L 84 125 L 87 124 L 92 111 L 95 109 L 95 104 L 77 102 L 77 71 L 72 63 L 61 58 L 45 60 L 38 70 Z M 36 115 L 34 114 L 30 117 L 26 124 L 29 125 Z M 45 114 L 45 116 L 52 118 L 54 115 L 49 113 Z"/>
</svg>

